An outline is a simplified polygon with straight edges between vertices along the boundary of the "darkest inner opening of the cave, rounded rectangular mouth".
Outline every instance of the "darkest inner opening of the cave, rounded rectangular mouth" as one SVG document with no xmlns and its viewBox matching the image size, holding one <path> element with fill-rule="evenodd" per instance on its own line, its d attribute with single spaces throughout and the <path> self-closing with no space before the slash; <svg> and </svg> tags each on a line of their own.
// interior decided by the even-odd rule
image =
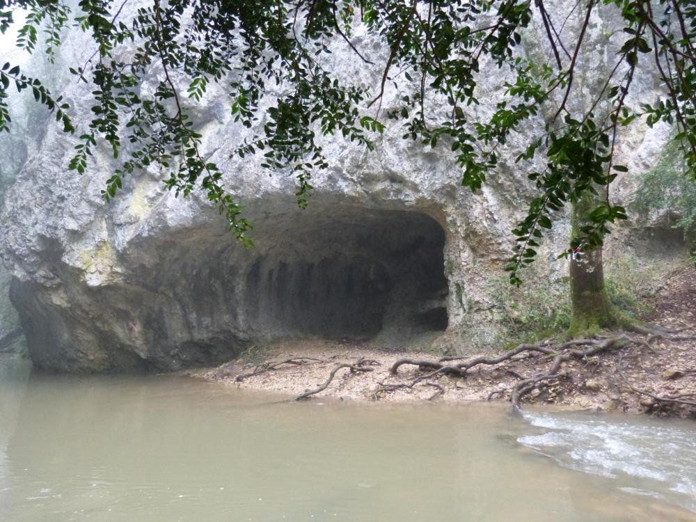
<svg viewBox="0 0 696 522">
<path fill-rule="evenodd" d="M 257 230 L 244 308 L 260 337 L 388 345 L 447 328 L 445 231 L 427 214 L 314 209 Z"/>
</svg>

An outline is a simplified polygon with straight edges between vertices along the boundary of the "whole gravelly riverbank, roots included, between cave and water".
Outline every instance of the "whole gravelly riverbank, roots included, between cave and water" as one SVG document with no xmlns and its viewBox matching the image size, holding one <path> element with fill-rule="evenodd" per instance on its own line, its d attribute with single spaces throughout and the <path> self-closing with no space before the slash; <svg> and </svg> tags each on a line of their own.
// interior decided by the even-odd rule
<svg viewBox="0 0 696 522">
<path fill-rule="evenodd" d="M 644 317 L 667 328 L 632 319 L 619 333 L 439 359 L 369 340 L 283 341 L 264 347 L 274 355 L 267 363 L 239 358 L 188 373 L 300 400 L 498 400 L 696 418 L 696 273 L 675 274 Z"/>
</svg>

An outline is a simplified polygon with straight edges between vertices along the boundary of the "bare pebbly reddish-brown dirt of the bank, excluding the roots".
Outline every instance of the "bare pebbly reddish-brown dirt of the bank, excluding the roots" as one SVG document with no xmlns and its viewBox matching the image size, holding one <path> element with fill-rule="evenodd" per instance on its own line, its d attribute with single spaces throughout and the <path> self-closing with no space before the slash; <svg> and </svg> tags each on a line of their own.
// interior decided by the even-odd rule
<svg viewBox="0 0 696 522">
<path fill-rule="evenodd" d="M 564 363 L 560 379 L 539 384 L 523 402 L 696 418 L 694 406 L 661 402 L 647 395 L 696 401 L 696 269 L 681 267 L 667 274 L 661 290 L 648 299 L 653 300 L 656 312 L 644 319 L 682 330 L 675 334 L 680 340 L 628 334 L 635 341 L 632 345 Z M 695 338 L 685 339 L 691 337 Z M 550 358 L 544 354 L 521 354 L 505 363 L 472 368 L 466 377 L 439 375 L 413 388 L 384 390 L 383 385 L 410 383 L 432 371 L 404 365 L 397 375 L 390 374 L 391 365 L 402 357 L 437 360 L 432 354 L 379 351 L 370 347 L 369 342 L 315 340 L 284 342 L 255 354 L 253 362 L 248 362 L 247 356 L 247 362 L 230 361 L 189 374 L 229 386 L 296 397 L 321 386 L 335 365 L 363 361 L 363 366 L 371 371 L 352 372 L 342 368 L 329 386 L 312 399 L 413 401 L 435 396 L 433 400 L 437 401 L 509 401 L 510 390 L 517 382 L 545 373 L 551 365 Z M 269 369 L 269 365 L 291 358 L 294 363 Z"/>
</svg>

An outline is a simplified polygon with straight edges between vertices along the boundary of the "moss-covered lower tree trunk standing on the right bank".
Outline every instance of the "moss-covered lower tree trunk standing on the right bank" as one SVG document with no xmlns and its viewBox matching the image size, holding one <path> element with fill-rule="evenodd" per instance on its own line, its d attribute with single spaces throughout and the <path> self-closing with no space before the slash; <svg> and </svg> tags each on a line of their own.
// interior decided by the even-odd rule
<svg viewBox="0 0 696 522">
<path fill-rule="evenodd" d="M 576 235 L 596 207 L 590 195 L 573 204 L 572 234 Z M 573 318 L 570 336 L 582 336 L 625 326 L 626 317 L 609 299 L 604 284 L 601 246 L 573 255 L 570 262 L 570 290 Z"/>
</svg>

